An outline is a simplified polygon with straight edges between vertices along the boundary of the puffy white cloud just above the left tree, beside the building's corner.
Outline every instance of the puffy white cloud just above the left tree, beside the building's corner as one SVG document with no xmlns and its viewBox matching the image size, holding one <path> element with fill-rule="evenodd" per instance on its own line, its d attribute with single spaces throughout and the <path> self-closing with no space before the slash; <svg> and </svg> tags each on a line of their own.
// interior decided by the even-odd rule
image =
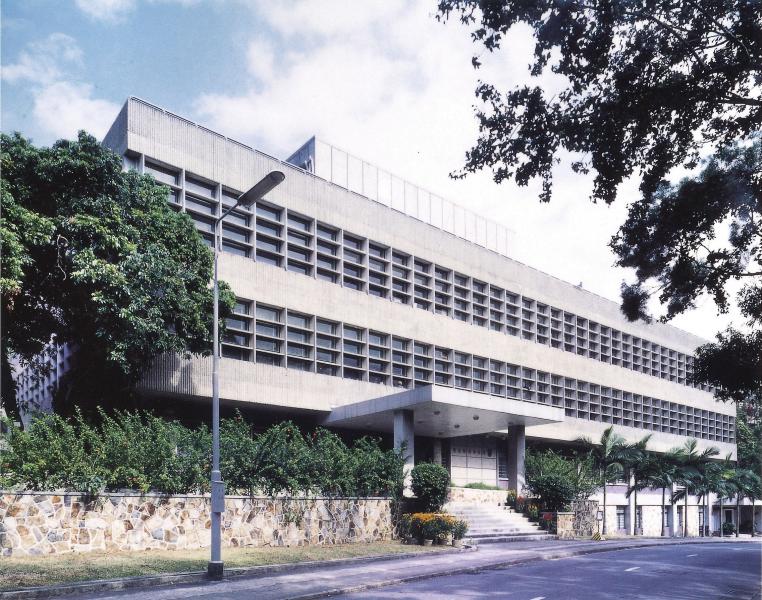
<svg viewBox="0 0 762 600">
<path fill-rule="evenodd" d="M 80 129 L 85 129 L 103 139 L 119 105 L 94 98 L 89 84 L 59 81 L 35 94 L 33 110 L 37 123 L 50 136 L 74 138 Z"/>
</svg>

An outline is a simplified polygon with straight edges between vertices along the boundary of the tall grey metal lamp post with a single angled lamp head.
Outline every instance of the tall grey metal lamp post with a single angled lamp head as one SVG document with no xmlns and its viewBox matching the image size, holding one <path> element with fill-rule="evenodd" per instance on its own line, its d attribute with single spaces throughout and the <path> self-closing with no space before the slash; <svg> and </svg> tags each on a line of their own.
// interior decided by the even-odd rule
<svg viewBox="0 0 762 600">
<path fill-rule="evenodd" d="M 236 203 L 225 210 L 214 222 L 214 336 L 212 354 L 212 476 L 211 476 L 211 509 L 212 509 L 212 551 L 207 565 L 210 579 L 222 579 L 222 513 L 225 511 L 225 484 L 220 473 L 220 288 L 217 278 L 217 264 L 220 255 L 220 227 L 222 220 L 238 206 L 249 207 L 265 194 L 268 194 L 280 184 L 286 176 L 281 171 L 271 171 L 256 183 L 249 191 L 241 194 Z"/>
</svg>

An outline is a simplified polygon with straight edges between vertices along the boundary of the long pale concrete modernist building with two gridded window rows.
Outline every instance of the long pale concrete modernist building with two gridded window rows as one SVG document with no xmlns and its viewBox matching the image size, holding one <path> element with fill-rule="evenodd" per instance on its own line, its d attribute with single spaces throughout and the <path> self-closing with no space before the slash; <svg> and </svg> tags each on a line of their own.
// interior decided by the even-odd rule
<svg viewBox="0 0 762 600">
<path fill-rule="evenodd" d="M 223 403 L 393 435 L 459 484 L 516 487 L 527 439 L 609 425 L 735 456 L 735 407 L 691 384 L 703 340 L 512 260 L 509 232 L 478 215 L 314 138 L 279 160 L 136 98 L 104 144 L 167 185 L 210 244 L 225 205 L 286 175 L 223 222 L 238 297 Z M 211 359 L 164 357 L 142 387 L 207 400 Z"/>
</svg>

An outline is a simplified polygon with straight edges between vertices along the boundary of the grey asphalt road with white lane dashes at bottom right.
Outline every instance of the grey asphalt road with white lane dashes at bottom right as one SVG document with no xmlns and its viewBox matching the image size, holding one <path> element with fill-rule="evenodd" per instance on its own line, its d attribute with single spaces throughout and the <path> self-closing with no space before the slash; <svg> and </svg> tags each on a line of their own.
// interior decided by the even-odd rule
<svg viewBox="0 0 762 600">
<path fill-rule="evenodd" d="M 427 579 L 345 599 L 745 600 L 760 598 L 762 546 L 638 548 Z"/>
</svg>

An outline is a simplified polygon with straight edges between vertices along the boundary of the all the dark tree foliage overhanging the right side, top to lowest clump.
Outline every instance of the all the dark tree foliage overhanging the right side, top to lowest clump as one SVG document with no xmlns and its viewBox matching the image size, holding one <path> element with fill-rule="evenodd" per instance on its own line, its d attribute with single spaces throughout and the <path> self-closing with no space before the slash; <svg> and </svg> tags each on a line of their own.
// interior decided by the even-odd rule
<svg viewBox="0 0 762 600">
<path fill-rule="evenodd" d="M 669 320 L 704 293 L 721 312 L 727 284 L 742 281 L 738 306 L 751 333 L 730 329 L 698 354 L 697 376 L 737 400 L 762 388 L 762 1 L 761 0 L 440 0 L 476 44 L 498 51 L 516 24 L 529 26 L 530 73 L 565 80 L 554 94 L 541 82 L 501 90 L 481 81 L 479 136 L 464 176 L 491 169 L 495 181 L 542 181 L 562 156 L 592 173 L 592 199 L 611 203 L 639 177 L 641 197 L 611 242 L 628 318 L 647 317 L 652 294 Z M 480 60 L 474 57 L 479 67 Z M 665 182 L 673 169 L 697 176 Z M 756 330 L 756 331 L 755 331 Z"/>
</svg>

